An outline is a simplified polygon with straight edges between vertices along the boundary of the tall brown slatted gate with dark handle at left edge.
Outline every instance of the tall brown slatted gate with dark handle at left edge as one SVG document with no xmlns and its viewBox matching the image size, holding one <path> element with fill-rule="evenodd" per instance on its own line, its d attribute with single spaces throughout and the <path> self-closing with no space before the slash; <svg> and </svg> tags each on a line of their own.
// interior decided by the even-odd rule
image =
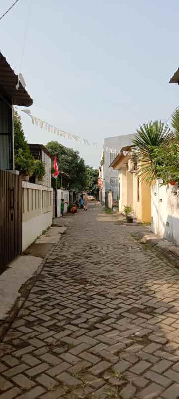
<svg viewBox="0 0 179 399">
<path fill-rule="evenodd" d="M 22 178 L 0 170 L 0 272 L 22 252 Z"/>
</svg>

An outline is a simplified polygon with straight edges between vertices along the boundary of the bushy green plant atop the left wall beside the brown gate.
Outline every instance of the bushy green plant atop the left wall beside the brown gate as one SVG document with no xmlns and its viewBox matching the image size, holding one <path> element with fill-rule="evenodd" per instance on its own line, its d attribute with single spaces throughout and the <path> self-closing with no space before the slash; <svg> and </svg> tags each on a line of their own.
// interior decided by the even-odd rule
<svg viewBox="0 0 179 399">
<path fill-rule="evenodd" d="M 34 172 L 34 159 L 28 153 L 24 152 L 20 148 L 15 157 L 15 168 L 19 170 L 22 175 L 22 179 L 28 182 L 29 177 L 33 175 Z"/>
</svg>

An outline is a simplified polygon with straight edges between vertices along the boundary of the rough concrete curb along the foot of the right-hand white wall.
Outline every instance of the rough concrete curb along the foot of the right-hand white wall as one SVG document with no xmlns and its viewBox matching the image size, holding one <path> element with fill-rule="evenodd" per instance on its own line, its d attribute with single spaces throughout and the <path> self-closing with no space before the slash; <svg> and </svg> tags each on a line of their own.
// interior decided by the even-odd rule
<svg viewBox="0 0 179 399">
<path fill-rule="evenodd" d="M 140 226 L 138 224 L 138 226 Z M 179 269 L 179 247 L 173 243 L 160 238 L 158 235 L 140 226 L 141 230 L 131 235 L 140 241 L 141 244 L 147 244 L 157 251 L 162 257 L 165 257 L 174 267 Z"/>
</svg>

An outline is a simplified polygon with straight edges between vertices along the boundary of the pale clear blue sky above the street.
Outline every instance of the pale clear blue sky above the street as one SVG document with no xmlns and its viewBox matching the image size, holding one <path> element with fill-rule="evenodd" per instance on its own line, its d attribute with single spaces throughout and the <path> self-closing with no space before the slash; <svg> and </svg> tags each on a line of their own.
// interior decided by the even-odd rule
<svg viewBox="0 0 179 399">
<path fill-rule="evenodd" d="M 2 14 L 14 0 L 0 0 Z M 0 21 L 0 46 L 19 73 L 29 0 Z M 32 0 L 22 74 L 41 119 L 103 145 L 165 120 L 179 105 L 168 81 L 179 67 L 178 0 Z M 52 133 L 22 116 L 29 142 Z M 59 139 L 60 140 L 60 139 Z M 100 150 L 61 139 L 98 167 Z"/>
</svg>

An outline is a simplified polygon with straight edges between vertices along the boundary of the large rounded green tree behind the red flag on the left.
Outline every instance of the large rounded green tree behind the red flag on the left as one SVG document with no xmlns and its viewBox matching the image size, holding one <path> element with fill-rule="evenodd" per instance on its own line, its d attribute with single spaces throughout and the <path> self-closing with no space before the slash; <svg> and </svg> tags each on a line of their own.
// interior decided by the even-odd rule
<svg viewBox="0 0 179 399">
<path fill-rule="evenodd" d="M 87 185 L 87 167 L 84 159 L 79 156 L 78 151 L 67 148 L 58 143 L 58 141 L 50 141 L 46 148 L 50 154 L 56 156 L 59 171 L 68 173 L 71 176 L 71 188 L 82 191 Z M 55 179 L 52 178 L 52 186 L 55 185 Z M 60 181 L 57 180 L 57 186 L 60 187 Z"/>
</svg>

